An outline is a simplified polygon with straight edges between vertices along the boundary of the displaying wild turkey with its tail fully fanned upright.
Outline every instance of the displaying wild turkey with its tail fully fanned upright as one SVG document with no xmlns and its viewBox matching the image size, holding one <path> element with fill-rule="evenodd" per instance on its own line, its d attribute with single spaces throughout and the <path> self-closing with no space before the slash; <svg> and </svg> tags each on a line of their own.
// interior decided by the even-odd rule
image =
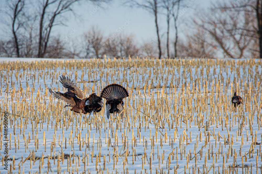
<svg viewBox="0 0 262 174">
<path fill-rule="evenodd" d="M 124 102 L 123 98 L 128 97 L 127 90 L 118 84 L 111 84 L 106 86 L 101 94 L 100 97 L 106 99 L 106 116 L 109 119 L 110 113 L 120 113 L 124 109 Z M 121 118 L 123 118 L 123 112 L 121 113 Z"/>
</svg>

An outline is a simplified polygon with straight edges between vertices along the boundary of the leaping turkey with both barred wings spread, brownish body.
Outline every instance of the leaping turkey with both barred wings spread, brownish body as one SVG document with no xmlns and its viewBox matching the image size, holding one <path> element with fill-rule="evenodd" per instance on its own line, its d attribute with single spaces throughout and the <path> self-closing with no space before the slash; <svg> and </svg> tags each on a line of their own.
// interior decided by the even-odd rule
<svg viewBox="0 0 262 174">
<path fill-rule="evenodd" d="M 63 87 L 67 88 L 68 91 L 65 93 L 61 93 L 61 92 L 53 92 L 50 88 L 49 92 L 57 99 L 62 99 L 64 100 L 66 103 L 68 103 L 69 105 L 66 105 L 64 107 L 70 106 L 71 111 L 80 113 L 80 110 L 82 111 L 82 113 L 86 114 L 86 111 L 84 110 L 85 107 L 85 102 L 87 98 L 83 98 L 83 93 L 80 91 L 80 89 L 75 85 L 74 82 L 71 81 L 71 79 L 69 77 L 65 77 L 62 75 L 62 77 L 60 76 L 60 80 L 59 80 Z"/>
</svg>

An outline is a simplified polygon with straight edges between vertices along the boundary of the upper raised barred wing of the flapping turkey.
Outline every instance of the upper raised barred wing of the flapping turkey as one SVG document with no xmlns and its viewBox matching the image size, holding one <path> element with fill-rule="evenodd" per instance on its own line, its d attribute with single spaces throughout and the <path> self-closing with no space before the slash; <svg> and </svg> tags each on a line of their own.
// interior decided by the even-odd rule
<svg viewBox="0 0 262 174">
<path fill-rule="evenodd" d="M 77 87 L 77 85 L 75 85 L 74 82 L 71 81 L 71 79 L 69 77 L 65 77 L 62 75 L 59 76 L 60 77 L 60 82 L 62 83 L 63 87 L 67 88 L 68 91 L 72 91 L 75 93 L 75 95 L 77 95 L 77 97 L 79 97 L 80 99 L 84 98 L 83 96 L 83 92 Z"/>
</svg>

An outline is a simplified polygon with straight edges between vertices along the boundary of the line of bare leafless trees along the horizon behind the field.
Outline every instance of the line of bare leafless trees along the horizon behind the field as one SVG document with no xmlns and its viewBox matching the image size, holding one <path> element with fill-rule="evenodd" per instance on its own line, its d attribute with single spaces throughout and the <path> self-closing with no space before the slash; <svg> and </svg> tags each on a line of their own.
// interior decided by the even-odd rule
<svg viewBox="0 0 262 174">
<path fill-rule="evenodd" d="M 196 0 L 126 0 L 123 6 L 142 8 L 154 17 L 156 37 L 143 43 L 138 43 L 134 34 L 105 36 L 97 26 L 90 26 L 79 38 L 53 34 L 54 27 L 66 25 L 67 14 L 77 15 L 73 4 L 79 5 L 78 1 L 44 0 L 32 4 L 29 0 L 6 0 L 0 13 L 6 16 L 1 23 L 8 34 L 0 39 L 0 57 L 262 58 L 262 0 L 215 1 L 208 9 L 195 10 L 186 17 L 184 14 L 193 9 Z M 110 3 L 88 2 L 97 7 Z M 160 16 L 166 18 L 164 32 L 160 32 Z M 74 32 L 72 29 L 71 35 Z"/>
</svg>

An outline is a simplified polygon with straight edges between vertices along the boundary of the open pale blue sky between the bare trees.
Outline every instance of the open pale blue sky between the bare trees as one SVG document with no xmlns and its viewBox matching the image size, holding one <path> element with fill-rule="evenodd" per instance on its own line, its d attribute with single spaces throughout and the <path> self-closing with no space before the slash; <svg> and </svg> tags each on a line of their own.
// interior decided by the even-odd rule
<svg viewBox="0 0 262 174">
<path fill-rule="evenodd" d="M 210 5 L 209 0 L 188 0 L 187 2 L 191 3 L 191 6 L 181 9 L 185 11 L 184 15 L 181 16 L 181 20 L 183 21 L 188 21 L 189 17 L 193 16 L 195 9 L 205 9 Z M 54 30 L 59 32 L 62 37 L 69 37 L 72 30 L 77 30 L 73 34 L 73 38 L 75 35 L 81 35 L 88 31 L 90 26 L 98 25 L 105 35 L 109 35 L 113 32 L 121 32 L 124 34 L 133 33 L 139 42 L 143 40 L 150 41 L 156 38 L 154 16 L 148 11 L 141 8 L 124 7 L 122 1 L 116 0 L 109 5 L 104 4 L 103 7 L 105 7 L 105 9 L 98 8 L 96 5 L 78 6 L 77 14 L 80 18 L 76 19 L 74 16 L 71 16 L 67 23 L 67 27 L 57 27 Z M 95 11 L 94 8 L 98 8 L 98 10 Z M 174 26 L 173 21 L 171 22 L 170 36 L 172 37 Z M 119 29 L 119 27 L 122 28 Z M 181 30 L 182 28 L 183 30 Z M 185 33 L 185 30 L 186 26 L 181 26 L 179 31 L 180 34 Z M 166 32 L 166 17 L 164 15 L 159 15 L 159 31 L 160 34 Z"/>
</svg>

